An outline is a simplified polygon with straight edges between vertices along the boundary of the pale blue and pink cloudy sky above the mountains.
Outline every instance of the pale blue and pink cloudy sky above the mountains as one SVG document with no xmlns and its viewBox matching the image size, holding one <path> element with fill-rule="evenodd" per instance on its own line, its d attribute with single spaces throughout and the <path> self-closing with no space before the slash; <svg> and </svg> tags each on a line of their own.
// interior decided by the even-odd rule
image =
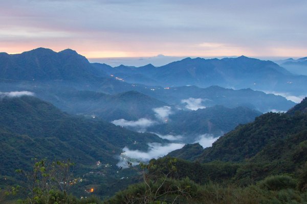
<svg viewBox="0 0 307 204">
<path fill-rule="evenodd" d="M 0 52 L 304 57 L 305 0 L 0 0 Z"/>
</svg>

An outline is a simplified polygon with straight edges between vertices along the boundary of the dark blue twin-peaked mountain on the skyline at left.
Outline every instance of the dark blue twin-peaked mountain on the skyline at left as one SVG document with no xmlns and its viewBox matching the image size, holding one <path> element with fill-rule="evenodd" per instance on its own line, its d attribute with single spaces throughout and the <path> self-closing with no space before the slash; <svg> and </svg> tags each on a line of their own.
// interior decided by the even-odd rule
<svg viewBox="0 0 307 204">
<path fill-rule="evenodd" d="M 96 70 L 75 50 L 54 52 L 36 48 L 21 54 L 0 56 L 1 79 L 13 80 L 93 80 L 105 73 Z"/>
</svg>

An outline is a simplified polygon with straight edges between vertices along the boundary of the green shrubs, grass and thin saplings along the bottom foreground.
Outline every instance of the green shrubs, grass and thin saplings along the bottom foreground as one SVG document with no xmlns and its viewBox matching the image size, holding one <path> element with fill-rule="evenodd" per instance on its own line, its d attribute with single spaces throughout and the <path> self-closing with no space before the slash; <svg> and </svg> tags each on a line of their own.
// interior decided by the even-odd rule
<svg viewBox="0 0 307 204">
<path fill-rule="evenodd" d="M 1 198 L 10 197 L 7 203 L 85 204 L 85 203 L 307 203 L 307 165 L 298 177 L 271 175 L 252 185 L 227 184 L 208 181 L 196 183 L 188 177 L 180 178 L 177 167 L 180 162 L 163 158 L 165 168 L 157 166 L 157 160 L 148 165 L 130 166 L 142 176 L 143 181 L 130 185 L 115 196 L 102 201 L 99 197 L 76 198 L 69 194 L 69 181 L 73 164 L 70 161 L 38 161 L 33 172 L 24 173 L 28 186 L 15 186 L 2 192 Z M 213 167 L 213 166 L 212 166 Z M 165 171 L 165 169 L 167 169 Z M 47 185 L 47 183 L 49 185 Z M 24 193 L 24 197 L 16 200 Z"/>
</svg>

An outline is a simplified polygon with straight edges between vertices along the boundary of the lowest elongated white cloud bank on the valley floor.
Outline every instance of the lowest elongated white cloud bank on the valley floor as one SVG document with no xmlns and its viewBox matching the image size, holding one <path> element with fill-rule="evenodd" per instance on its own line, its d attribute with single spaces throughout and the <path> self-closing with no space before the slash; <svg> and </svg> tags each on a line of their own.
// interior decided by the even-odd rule
<svg viewBox="0 0 307 204">
<path fill-rule="evenodd" d="M 169 143 L 162 145 L 161 143 L 148 143 L 148 151 L 130 150 L 127 147 L 123 148 L 122 154 L 119 156 L 120 161 L 117 166 L 127 167 L 126 162 L 148 162 L 153 158 L 159 158 L 167 155 L 169 152 L 180 149 L 184 146 L 182 143 Z"/>
</svg>

